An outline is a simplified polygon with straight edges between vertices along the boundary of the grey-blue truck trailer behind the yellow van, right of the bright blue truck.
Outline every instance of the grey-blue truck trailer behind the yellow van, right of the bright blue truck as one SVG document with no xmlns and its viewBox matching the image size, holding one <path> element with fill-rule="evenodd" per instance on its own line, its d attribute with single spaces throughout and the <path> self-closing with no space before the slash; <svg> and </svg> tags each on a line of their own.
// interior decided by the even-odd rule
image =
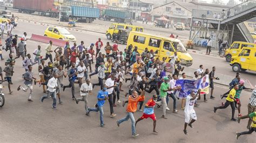
<svg viewBox="0 0 256 143">
<path fill-rule="evenodd" d="M 105 19 L 107 21 L 114 19 L 114 21 L 118 23 L 129 22 L 131 18 L 131 14 L 132 13 L 127 10 L 117 10 L 117 9 L 105 9 L 102 12 L 102 15 L 105 16 Z"/>
</svg>

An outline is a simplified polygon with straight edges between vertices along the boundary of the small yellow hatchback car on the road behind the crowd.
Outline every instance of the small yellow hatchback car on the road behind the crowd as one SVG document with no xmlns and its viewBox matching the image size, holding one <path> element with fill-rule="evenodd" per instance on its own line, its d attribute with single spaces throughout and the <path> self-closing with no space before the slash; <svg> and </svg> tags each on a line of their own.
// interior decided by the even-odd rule
<svg viewBox="0 0 256 143">
<path fill-rule="evenodd" d="M 49 26 L 44 31 L 44 36 L 50 37 L 50 38 L 66 40 L 66 41 L 71 41 L 71 42 L 76 42 L 76 37 L 75 36 L 73 36 L 65 28 L 60 28 L 60 27 Z"/>
</svg>

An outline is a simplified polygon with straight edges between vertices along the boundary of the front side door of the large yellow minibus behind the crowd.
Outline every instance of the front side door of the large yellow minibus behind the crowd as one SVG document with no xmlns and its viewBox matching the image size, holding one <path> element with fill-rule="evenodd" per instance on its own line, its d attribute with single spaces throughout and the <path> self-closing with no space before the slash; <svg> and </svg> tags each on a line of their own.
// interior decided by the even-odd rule
<svg viewBox="0 0 256 143">
<path fill-rule="evenodd" d="M 165 57 L 167 59 L 166 62 L 169 62 L 169 57 L 173 55 L 174 50 L 170 41 L 163 40 L 163 42 L 160 48 L 160 60 Z"/>
</svg>

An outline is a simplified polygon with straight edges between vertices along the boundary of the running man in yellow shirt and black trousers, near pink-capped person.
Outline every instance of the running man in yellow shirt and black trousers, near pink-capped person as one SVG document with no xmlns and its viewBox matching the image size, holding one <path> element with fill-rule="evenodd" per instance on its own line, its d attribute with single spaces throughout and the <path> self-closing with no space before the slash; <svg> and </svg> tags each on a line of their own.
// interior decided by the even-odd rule
<svg viewBox="0 0 256 143">
<path fill-rule="evenodd" d="M 226 98 L 226 103 L 224 104 L 224 106 L 219 106 L 219 107 L 214 107 L 214 113 L 216 113 L 217 109 L 223 109 L 223 108 L 226 108 L 228 105 L 231 106 L 232 108 L 232 118 L 231 120 L 232 121 L 237 121 L 237 119 L 234 118 L 234 113 L 235 113 L 235 105 L 234 105 L 234 101 L 235 101 L 235 93 L 236 91 L 238 90 L 238 85 L 235 84 L 233 89 L 230 91 L 230 93 L 228 93 L 228 96 Z"/>
</svg>

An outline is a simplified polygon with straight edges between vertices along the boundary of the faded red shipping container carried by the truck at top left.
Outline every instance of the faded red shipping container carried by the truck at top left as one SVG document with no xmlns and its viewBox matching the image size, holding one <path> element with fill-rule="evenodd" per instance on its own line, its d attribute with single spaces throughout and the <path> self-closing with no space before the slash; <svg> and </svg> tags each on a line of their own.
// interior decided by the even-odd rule
<svg viewBox="0 0 256 143">
<path fill-rule="evenodd" d="M 54 0 L 14 0 L 15 9 L 51 11 L 55 8 Z"/>
</svg>

